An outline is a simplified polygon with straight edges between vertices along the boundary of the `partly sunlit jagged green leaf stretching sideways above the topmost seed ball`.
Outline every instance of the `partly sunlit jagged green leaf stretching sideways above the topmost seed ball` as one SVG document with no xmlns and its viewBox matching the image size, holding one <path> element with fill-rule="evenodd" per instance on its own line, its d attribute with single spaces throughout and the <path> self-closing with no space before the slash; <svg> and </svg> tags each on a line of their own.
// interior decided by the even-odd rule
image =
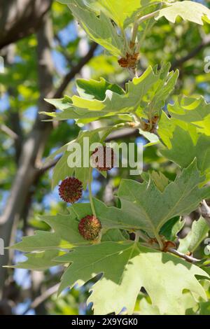
<svg viewBox="0 0 210 329">
<path fill-rule="evenodd" d="M 119 113 L 137 113 L 138 116 L 151 118 L 155 114 L 161 115 L 161 110 L 165 105 L 165 100 L 169 97 L 170 92 L 174 89 L 179 71 L 169 73 L 170 64 L 162 66 L 158 71 L 157 66 L 151 66 L 139 77 L 129 81 L 125 86 L 125 92 L 120 87 L 112 90 L 106 90 L 106 97 L 103 100 L 90 99 L 73 96 L 69 102 L 69 108 L 62 112 L 45 113 L 51 116 L 53 120 L 83 119 L 90 121 L 99 118 L 108 118 Z M 95 93 L 96 81 L 91 80 L 88 85 L 89 94 Z M 99 85 L 104 93 L 104 85 Z M 112 85 L 113 86 L 113 85 Z M 92 89 L 92 90 L 90 90 Z M 99 90 L 97 90 L 97 94 Z M 104 95 L 104 96 L 105 96 Z M 50 104 L 55 104 L 53 99 L 47 99 Z M 56 104 L 57 104 L 56 100 Z M 61 106 L 63 109 L 63 100 Z M 65 104 L 66 106 L 66 104 Z"/>
</svg>

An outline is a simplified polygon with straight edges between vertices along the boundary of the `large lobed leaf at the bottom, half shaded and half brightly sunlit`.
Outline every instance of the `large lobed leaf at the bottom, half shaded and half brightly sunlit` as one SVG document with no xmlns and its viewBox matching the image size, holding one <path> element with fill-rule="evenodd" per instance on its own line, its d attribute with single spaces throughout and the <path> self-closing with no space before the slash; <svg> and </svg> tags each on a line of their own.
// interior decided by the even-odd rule
<svg viewBox="0 0 210 329">
<path fill-rule="evenodd" d="M 124 307 L 132 314 L 141 287 L 146 289 L 160 314 L 185 314 L 184 289 L 207 299 L 195 278 L 195 275 L 207 277 L 206 272 L 174 255 L 132 241 L 78 247 L 55 260 L 71 263 L 62 276 L 59 293 L 103 274 L 90 289 L 92 294 L 87 300 L 93 302 L 94 314 L 119 314 Z"/>
</svg>

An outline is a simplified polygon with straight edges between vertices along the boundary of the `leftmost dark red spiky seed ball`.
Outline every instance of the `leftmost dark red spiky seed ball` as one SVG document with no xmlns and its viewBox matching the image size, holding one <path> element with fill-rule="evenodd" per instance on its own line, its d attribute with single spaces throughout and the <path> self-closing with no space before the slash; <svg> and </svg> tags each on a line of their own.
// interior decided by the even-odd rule
<svg viewBox="0 0 210 329">
<path fill-rule="evenodd" d="M 83 195 L 83 183 L 74 177 L 68 177 L 59 185 L 58 192 L 62 200 L 74 203 Z"/>
</svg>

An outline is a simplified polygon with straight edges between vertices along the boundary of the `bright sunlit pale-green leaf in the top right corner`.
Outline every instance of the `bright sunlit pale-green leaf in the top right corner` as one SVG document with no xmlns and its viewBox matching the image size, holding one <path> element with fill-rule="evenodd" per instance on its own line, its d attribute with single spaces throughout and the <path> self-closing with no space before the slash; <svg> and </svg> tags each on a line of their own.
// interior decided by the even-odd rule
<svg viewBox="0 0 210 329">
<path fill-rule="evenodd" d="M 176 1 L 168 3 L 167 7 L 159 10 L 155 20 L 165 17 L 169 22 L 175 23 L 177 17 L 203 25 L 203 20 L 210 20 L 210 10 L 195 1 Z"/>
</svg>

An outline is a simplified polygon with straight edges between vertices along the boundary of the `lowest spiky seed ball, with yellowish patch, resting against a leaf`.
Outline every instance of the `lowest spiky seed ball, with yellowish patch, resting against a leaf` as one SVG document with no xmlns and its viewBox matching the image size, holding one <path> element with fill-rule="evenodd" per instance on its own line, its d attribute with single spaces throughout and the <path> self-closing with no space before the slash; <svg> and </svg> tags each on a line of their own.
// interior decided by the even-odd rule
<svg viewBox="0 0 210 329">
<path fill-rule="evenodd" d="M 86 240 L 95 240 L 102 230 L 102 224 L 94 215 L 87 215 L 78 224 L 80 235 Z"/>
</svg>

